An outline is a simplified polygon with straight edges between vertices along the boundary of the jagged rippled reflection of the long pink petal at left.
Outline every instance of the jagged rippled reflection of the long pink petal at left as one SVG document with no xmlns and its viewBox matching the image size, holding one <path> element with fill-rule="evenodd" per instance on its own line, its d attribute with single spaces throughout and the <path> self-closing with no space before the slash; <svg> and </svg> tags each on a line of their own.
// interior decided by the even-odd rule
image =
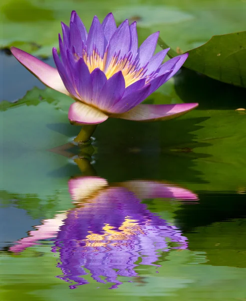
<svg viewBox="0 0 246 301">
<path fill-rule="evenodd" d="M 30 231 L 30 236 L 18 240 L 18 244 L 10 247 L 10 251 L 15 253 L 21 252 L 25 248 L 36 244 L 38 240 L 55 237 L 65 217 L 66 214 L 59 213 L 52 219 L 44 220 L 42 225 L 34 226 L 37 230 Z"/>
</svg>

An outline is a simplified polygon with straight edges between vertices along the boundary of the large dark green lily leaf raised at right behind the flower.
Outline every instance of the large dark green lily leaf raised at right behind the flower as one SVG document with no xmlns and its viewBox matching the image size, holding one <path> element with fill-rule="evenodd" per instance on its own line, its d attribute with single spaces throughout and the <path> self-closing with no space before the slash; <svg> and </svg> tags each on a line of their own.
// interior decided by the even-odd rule
<svg viewBox="0 0 246 301">
<path fill-rule="evenodd" d="M 159 45 L 167 45 L 159 39 Z M 170 50 L 170 57 L 177 54 Z M 184 67 L 219 81 L 246 87 L 246 31 L 213 36 L 207 43 L 188 51 Z"/>
</svg>

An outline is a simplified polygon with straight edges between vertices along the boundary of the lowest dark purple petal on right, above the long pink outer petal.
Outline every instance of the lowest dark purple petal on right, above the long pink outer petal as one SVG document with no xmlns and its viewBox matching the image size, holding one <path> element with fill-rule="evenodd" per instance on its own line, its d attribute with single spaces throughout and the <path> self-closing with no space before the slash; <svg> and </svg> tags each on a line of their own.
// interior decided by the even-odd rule
<svg viewBox="0 0 246 301">
<path fill-rule="evenodd" d="M 121 114 L 129 111 L 130 109 L 138 105 L 147 97 L 149 88 L 150 88 L 150 84 L 147 84 L 143 86 L 141 89 L 128 94 L 127 96 L 120 99 L 117 103 L 115 103 L 110 108 L 109 112 L 113 114 Z"/>
</svg>

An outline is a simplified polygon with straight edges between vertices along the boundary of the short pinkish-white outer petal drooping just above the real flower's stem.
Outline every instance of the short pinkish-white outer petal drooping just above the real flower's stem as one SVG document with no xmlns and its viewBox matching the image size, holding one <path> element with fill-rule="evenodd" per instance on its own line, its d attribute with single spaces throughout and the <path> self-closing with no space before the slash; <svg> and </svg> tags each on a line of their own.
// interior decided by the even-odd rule
<svg viewBox="0 0 246 301">
<path fill-rule="evenodd" d="M 102 111 L 78 101 L 73 102 L 68 110 L 68 119 L 71 124 L 98 124 L 107 118 L 108 116 Z"/>
</svg>

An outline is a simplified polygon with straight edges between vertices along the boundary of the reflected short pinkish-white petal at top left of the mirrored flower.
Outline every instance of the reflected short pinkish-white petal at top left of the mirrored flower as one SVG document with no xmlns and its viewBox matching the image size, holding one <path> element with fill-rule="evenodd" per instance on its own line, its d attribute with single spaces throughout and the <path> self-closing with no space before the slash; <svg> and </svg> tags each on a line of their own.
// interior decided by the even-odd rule
<svg viewBox="0 0 246 301">
<path fill-rule="evenodd" d="M 71 199 L 81 201 L 108 185 L 107 181 L 99 177 L 79 177 L 68 181 L 68 191 Z"/>
</svg>

